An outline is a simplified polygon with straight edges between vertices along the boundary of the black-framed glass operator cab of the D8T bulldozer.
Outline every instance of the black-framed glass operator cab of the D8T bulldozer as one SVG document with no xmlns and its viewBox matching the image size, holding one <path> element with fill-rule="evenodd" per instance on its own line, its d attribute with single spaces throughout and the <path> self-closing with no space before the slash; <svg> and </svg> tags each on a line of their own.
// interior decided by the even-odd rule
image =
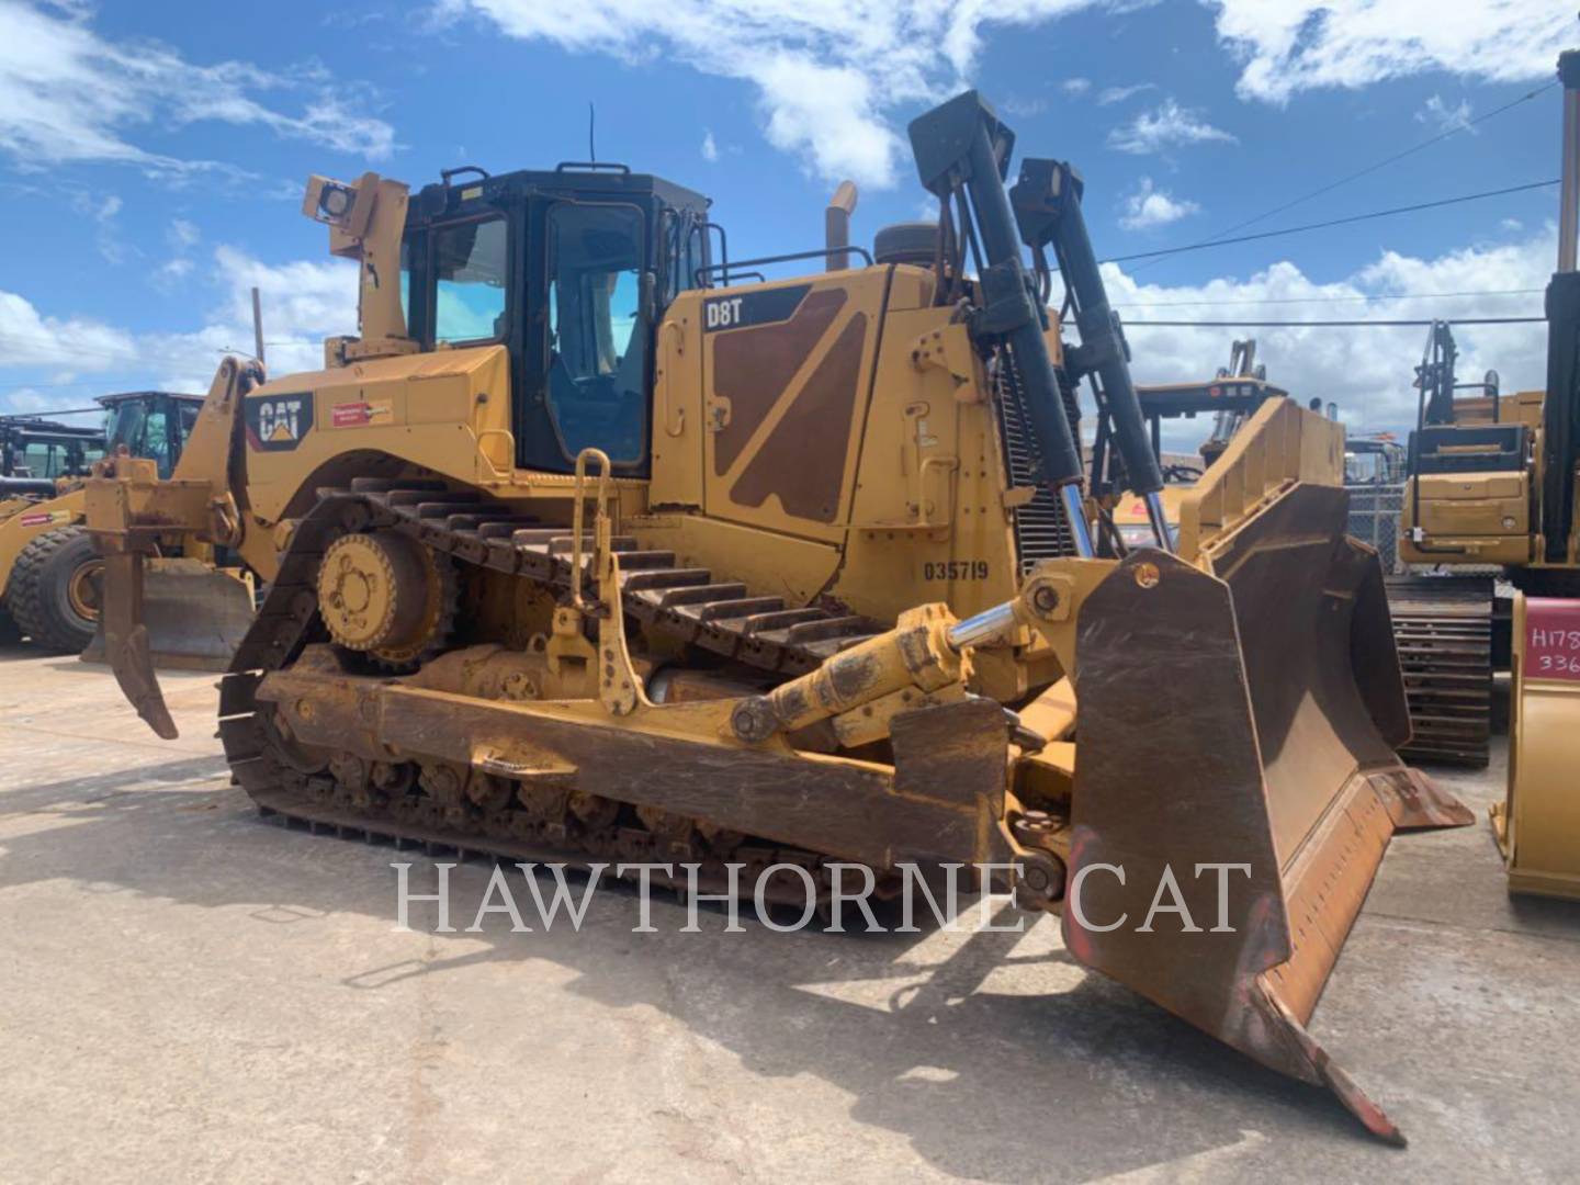
<svg viewBox="0 0 1580 1185">
<path fill-rule="evenodd" d="M 596 446 L 645 476 L 654 327 L 709 262 L 708 199 L 624 164 L 442 175 L 406 215 L 406 332 L 509 349 L 518 468 L 572 472 Z"/>
</svg>

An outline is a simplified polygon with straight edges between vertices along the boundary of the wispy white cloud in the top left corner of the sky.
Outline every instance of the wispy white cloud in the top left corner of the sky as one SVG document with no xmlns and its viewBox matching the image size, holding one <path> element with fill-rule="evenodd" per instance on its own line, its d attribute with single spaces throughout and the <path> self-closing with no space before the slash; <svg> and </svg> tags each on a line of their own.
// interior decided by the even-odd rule
<svg viewBox="0 0 1580 1185">
<path fill-rule="evenodd" d="M 321 66 L 265 71 L 245 62 L 199 65 L 156 41 L 112 41 L 76 6 L 44 11 L 0 0 L 0 152 L 22 169 L 122 163 L 179 179 L 240 171 L 141 147 L 134 133 L 196 122 L 256 125 L 370 160 L 387 156 L 393 130 L 363 111 L 365 88 Z M 264 92 L 307 96 L 299 114 L 265 106 Z"/>
</svg>

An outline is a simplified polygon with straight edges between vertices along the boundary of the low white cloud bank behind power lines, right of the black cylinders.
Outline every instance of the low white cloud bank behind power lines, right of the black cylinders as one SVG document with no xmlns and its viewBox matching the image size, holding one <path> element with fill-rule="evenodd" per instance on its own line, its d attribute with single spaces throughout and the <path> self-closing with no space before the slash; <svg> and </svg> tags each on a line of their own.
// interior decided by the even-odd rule
<svg viewBox="0 0 1580 1185">
<path fill-rule="evenodd" d="M 1302 401 L 1337 401 L 1346 420 L 1367 431 L 1406 430 L 1416 417 L 1411 389 L 1427 330 L 1417 327 L 1147 327 L 1141 321 L 1327 321 L 1425 319 L 1454 316 L 1540 316 L 1542 289 L 1553 270 L 1556 231 L 1547 226 L 1520 242 L 1469 246 L 1424 259 L 1384 251 L 1335 281 L 1316 281 L 1291 262 L 1248 278 L 1201 284 L 1149 284 L 1104 264 L 1109 297 L 1127 322 L 1138 382 L 1179 382 L 1210 376 L 1229 360 L 1234 338 L 1255 337 L 1269 381 Z M 1514 289 L 1514 291 L 1510 291 Z M 1501 295 L 1376 300 L 1387 294 L 1496 292 Z M 1493 368 L 1504 390 L 1545 382 L 1547 325 L 1457 325 L 1460 373 Z M 1171 446 L 1193 449 L 1210 425 L 1172 425 Z"/>
</svg>

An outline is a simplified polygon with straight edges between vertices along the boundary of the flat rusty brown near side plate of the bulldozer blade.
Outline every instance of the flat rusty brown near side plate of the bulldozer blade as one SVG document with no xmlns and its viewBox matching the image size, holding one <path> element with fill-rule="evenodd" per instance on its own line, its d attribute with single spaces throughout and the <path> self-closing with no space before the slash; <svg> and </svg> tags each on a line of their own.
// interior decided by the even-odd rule
<svg viewBox="0 0 1580 1185">
<path fill-rule="evenodd" d="M 1142 562 L 1160 569 L 1155 588 L 1136 581 Z M 1082 607 L 1076 660 L 1071 875 L 1085 875 L 1079 910 L 1065 905 L 1065 942 L 1253 1052 L 1248 981 L 1289 957 L 1289 926 L 1229 591 L 1179 559 L 1136 553 Z M 1231 929 L 1210 929 L 1220 894 L 1215 875 L 1196 875 L 1206 863 L 1248 866 L 1223 894 Z M 1098 864 L 1123 867 L 1123 882 Z M 1172 915 L 1136 932 L 1166 867 L 1202 932 Z"/>
</svg>

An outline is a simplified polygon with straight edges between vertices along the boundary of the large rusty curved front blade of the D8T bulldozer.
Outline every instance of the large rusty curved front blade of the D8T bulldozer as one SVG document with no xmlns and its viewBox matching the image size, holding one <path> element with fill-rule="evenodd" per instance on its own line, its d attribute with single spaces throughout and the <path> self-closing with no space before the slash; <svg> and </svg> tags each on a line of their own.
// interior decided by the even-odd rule
<svg viewBox="0 0 1580 1185">
<path fill-rule="evenodd" d="M 1065 942 L 1177 1016 L 1398 1128 L 1307 1032 L 1389 839 L 1469 811 L 1406 768 L 1376 556 L 1296 487 L 1207 561 L 1125 559 L 1082 605 Z M 1381 615 L 1381 619 L 1379 619 Z"/>
</svg>

